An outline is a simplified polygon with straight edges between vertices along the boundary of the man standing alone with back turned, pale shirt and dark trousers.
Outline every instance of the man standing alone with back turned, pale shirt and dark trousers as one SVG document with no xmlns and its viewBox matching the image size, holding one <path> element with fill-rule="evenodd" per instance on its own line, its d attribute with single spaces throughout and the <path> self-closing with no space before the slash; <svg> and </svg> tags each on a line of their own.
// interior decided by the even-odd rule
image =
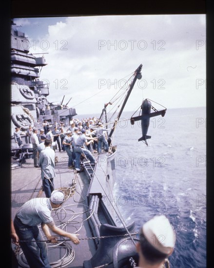
<svg viewBox="0 0 214 268">
<path fill-rule="evenodd" d="M 44 140 L 45 149 L 39 154 L 39 167 L 41 167 L 42 186 L 46 197 L 50 197 L 54 191 L 55 152 L 51 149 L 51 140 Z"/>
</svg>

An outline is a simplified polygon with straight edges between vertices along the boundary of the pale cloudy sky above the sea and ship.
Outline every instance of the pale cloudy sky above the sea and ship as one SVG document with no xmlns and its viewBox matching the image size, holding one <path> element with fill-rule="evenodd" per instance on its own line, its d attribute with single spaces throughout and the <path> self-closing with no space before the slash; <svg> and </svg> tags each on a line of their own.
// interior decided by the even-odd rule
<svg viewBox="0 0 214 268">
<path fill-rule="evenodd" d="M 30 53 L 47 63 L 40 80 L 50 102 L 99 114 L 127 88 L 142 64 L 124 111 L 149 98 L 167 109 L 206 106 L 206 15 L 78 16 L 14 19 Z M 125 79 L 128 82 L 125 82 Z M 155 106 L 156 107 L 156 106 Z M 157 109 L 160 106 L 157 105 Z"/>
</svg>

